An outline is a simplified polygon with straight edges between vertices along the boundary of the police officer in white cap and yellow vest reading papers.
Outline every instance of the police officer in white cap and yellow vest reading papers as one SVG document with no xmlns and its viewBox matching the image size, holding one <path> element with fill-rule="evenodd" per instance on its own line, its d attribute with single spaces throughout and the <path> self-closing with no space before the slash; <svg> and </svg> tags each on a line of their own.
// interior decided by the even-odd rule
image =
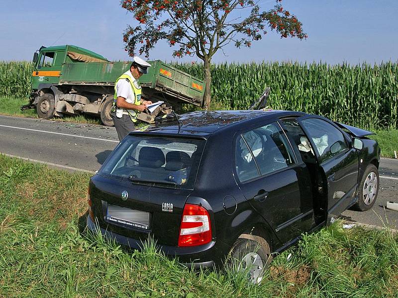
<svg viewBox="0 0 398 298">
<path fill-rule="evenodd" d="M 141 85 L 138 81 L 142 74 L 147 73 L 148 67 L 151 67 L 148 62 L 135 56 L 130 69 L 116 79 L 110 116 L 113 119 L 119 141 L 134 130 L 137 114 L 152 103 L 152 101 L 141 98 Z"/>
</svg>

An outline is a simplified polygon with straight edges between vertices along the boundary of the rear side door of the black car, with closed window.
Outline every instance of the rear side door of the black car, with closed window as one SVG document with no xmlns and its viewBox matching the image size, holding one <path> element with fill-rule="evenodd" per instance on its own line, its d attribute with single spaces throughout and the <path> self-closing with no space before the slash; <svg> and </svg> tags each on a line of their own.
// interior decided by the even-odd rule
<svg viewBox="0 0 398 298">
<path fill-rule="evenodd" d="M 235 135 L 235 177 L 246 200 L 287 243 L 314 225 L 309 172 L 279 122 Z"/>
</svg>

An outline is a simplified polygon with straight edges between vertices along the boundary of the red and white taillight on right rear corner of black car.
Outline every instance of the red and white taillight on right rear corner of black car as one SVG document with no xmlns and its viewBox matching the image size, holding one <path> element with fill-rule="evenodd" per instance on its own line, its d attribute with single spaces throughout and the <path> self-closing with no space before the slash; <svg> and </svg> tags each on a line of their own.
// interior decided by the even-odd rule
<svg viewBox="0 0 398 298">
<path fill-rule="evenodd" d="M 185 204 L 178 246 L 196 246 L 211 241 L 210 216 L 199 205 Z"/>
</svg>

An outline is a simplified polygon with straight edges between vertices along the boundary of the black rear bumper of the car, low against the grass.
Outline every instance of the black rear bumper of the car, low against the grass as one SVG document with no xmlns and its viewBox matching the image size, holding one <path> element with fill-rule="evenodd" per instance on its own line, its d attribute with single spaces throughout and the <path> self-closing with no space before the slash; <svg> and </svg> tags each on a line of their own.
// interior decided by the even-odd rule
<svg viewBox="0 0 398 298">
<path fill-rule="evenodd" d="M 143 243 L 139 239 L 130 238 L 95 224 L 90 216 L 87 217 L 87 227 L 94 233 L 100 232 L 102 236 L 114 239 L 116 242 L 131 249 L 141 250 Z M 215 241 L 194 247 L 177 247 L 168 245 L 158 245 L 159 249 L 169 257 L 178 257 L 179 262 L 189 268 L 209 268 L 221 261 L 215 252 L 219 249 L 215 247 Z"/>
</svg>

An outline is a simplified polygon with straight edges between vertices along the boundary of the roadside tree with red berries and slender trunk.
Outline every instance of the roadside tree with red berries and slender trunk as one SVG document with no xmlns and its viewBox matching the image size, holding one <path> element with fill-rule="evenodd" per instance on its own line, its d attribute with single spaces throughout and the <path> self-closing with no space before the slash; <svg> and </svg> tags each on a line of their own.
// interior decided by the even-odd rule
<svg viewBox="0 0 398 298">
<path fill-rule="evenodd" d="M 159 40 L 167 40 L 175 47 L 173 57 L 197 56 L 203 61 L 205 86 L 204 105 L 210 106 L 211 73 L 213 55 L 234 43 L 238 48 L 250 47 L 275 30 L 281 38 L 306 38 L 297 17 L 285 10 L 282 0 L 276 0 L 273 8 L 261 11 L 259 1 L 254 0 L 121 0 L 121 6 L 139 22 L 129 26 L 124 35 L 125 50 L 134 56 L 153 49 Z"/>
</svg>

